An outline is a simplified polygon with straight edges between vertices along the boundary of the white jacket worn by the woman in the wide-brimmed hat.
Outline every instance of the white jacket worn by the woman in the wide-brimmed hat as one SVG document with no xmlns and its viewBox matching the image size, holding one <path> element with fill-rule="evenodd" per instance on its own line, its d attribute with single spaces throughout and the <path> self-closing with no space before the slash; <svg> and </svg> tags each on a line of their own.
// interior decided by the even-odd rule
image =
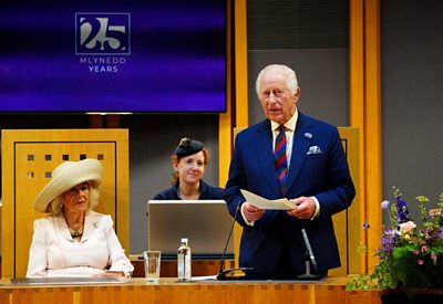
<svg viewBox="0 0 443 304">
<path fill-rule="evenodd" d="M 62 212 L 34 221 L 27 277 L 93 276 L 107 269 L 125 275 L 134 270 L 114 232 L 111 216 L 87 211 L 80 242 L 71 237 Z"/>
</svg>

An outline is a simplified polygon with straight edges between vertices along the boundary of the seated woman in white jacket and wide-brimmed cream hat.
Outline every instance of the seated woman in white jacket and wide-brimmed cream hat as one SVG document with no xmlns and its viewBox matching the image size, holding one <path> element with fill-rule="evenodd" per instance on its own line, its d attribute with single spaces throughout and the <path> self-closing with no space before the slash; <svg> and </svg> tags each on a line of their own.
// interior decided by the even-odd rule
<svg viewBox="0 0 443 304">
<path fill-rule="evenodd" d="M 103 166 L 96 159 L 59 165 L 34 208 L 50 216 L 34 221 L 27 277 L 130 276 L 134 268 L 99 203 Z"/>
</svg>

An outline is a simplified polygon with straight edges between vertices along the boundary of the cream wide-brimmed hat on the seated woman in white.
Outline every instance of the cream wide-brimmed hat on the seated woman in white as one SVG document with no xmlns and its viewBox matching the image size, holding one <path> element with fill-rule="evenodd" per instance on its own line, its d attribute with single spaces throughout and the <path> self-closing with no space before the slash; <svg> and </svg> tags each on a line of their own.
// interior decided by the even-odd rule
<svg viewBox="0 0 443 304">
<path fill-rule="evenodd" d="M 39 212 L 48 212 L 49 203 L 64 191 L 85 181 L 97 188 L 102 182 L 103 165 L 96 159 L 65 161 L 52 171 L 50 182 L 40 191 L 34 201 Z"/>
</svg>

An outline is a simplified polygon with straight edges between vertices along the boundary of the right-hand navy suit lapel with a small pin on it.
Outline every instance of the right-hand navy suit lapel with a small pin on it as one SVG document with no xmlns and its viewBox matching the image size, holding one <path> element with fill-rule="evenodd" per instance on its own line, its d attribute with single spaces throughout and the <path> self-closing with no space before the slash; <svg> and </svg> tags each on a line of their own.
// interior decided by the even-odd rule
<svg viewBox="0 0 443 304">
<path fill-rule="evenodd" d="M 307 122 L 306 116 L 299 112 L 296 134 L 293 135 L 292 140 L 292 155 L 288 177 L 286 180 L 285 196 L 300 176 L 300 171 L 306 159 L 306 154 L 309 149 L 312 137 L 313 134 L 311 130 L 311 125 Z"/>
</svg>

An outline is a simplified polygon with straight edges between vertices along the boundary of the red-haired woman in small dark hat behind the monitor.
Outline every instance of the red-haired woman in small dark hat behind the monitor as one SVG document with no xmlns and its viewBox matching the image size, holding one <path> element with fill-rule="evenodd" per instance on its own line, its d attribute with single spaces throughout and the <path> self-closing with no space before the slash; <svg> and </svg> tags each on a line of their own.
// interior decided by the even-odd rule
<svg viewBox="0 0 443 304">
<path fill-rule="evenodd" d="M 198 140 L 182 138 L 172 155 L 173 186 L 157 193 L 155 200 L 223 199 L 224 190 L 203 181 L 209 153 Z"/>
</svg>

